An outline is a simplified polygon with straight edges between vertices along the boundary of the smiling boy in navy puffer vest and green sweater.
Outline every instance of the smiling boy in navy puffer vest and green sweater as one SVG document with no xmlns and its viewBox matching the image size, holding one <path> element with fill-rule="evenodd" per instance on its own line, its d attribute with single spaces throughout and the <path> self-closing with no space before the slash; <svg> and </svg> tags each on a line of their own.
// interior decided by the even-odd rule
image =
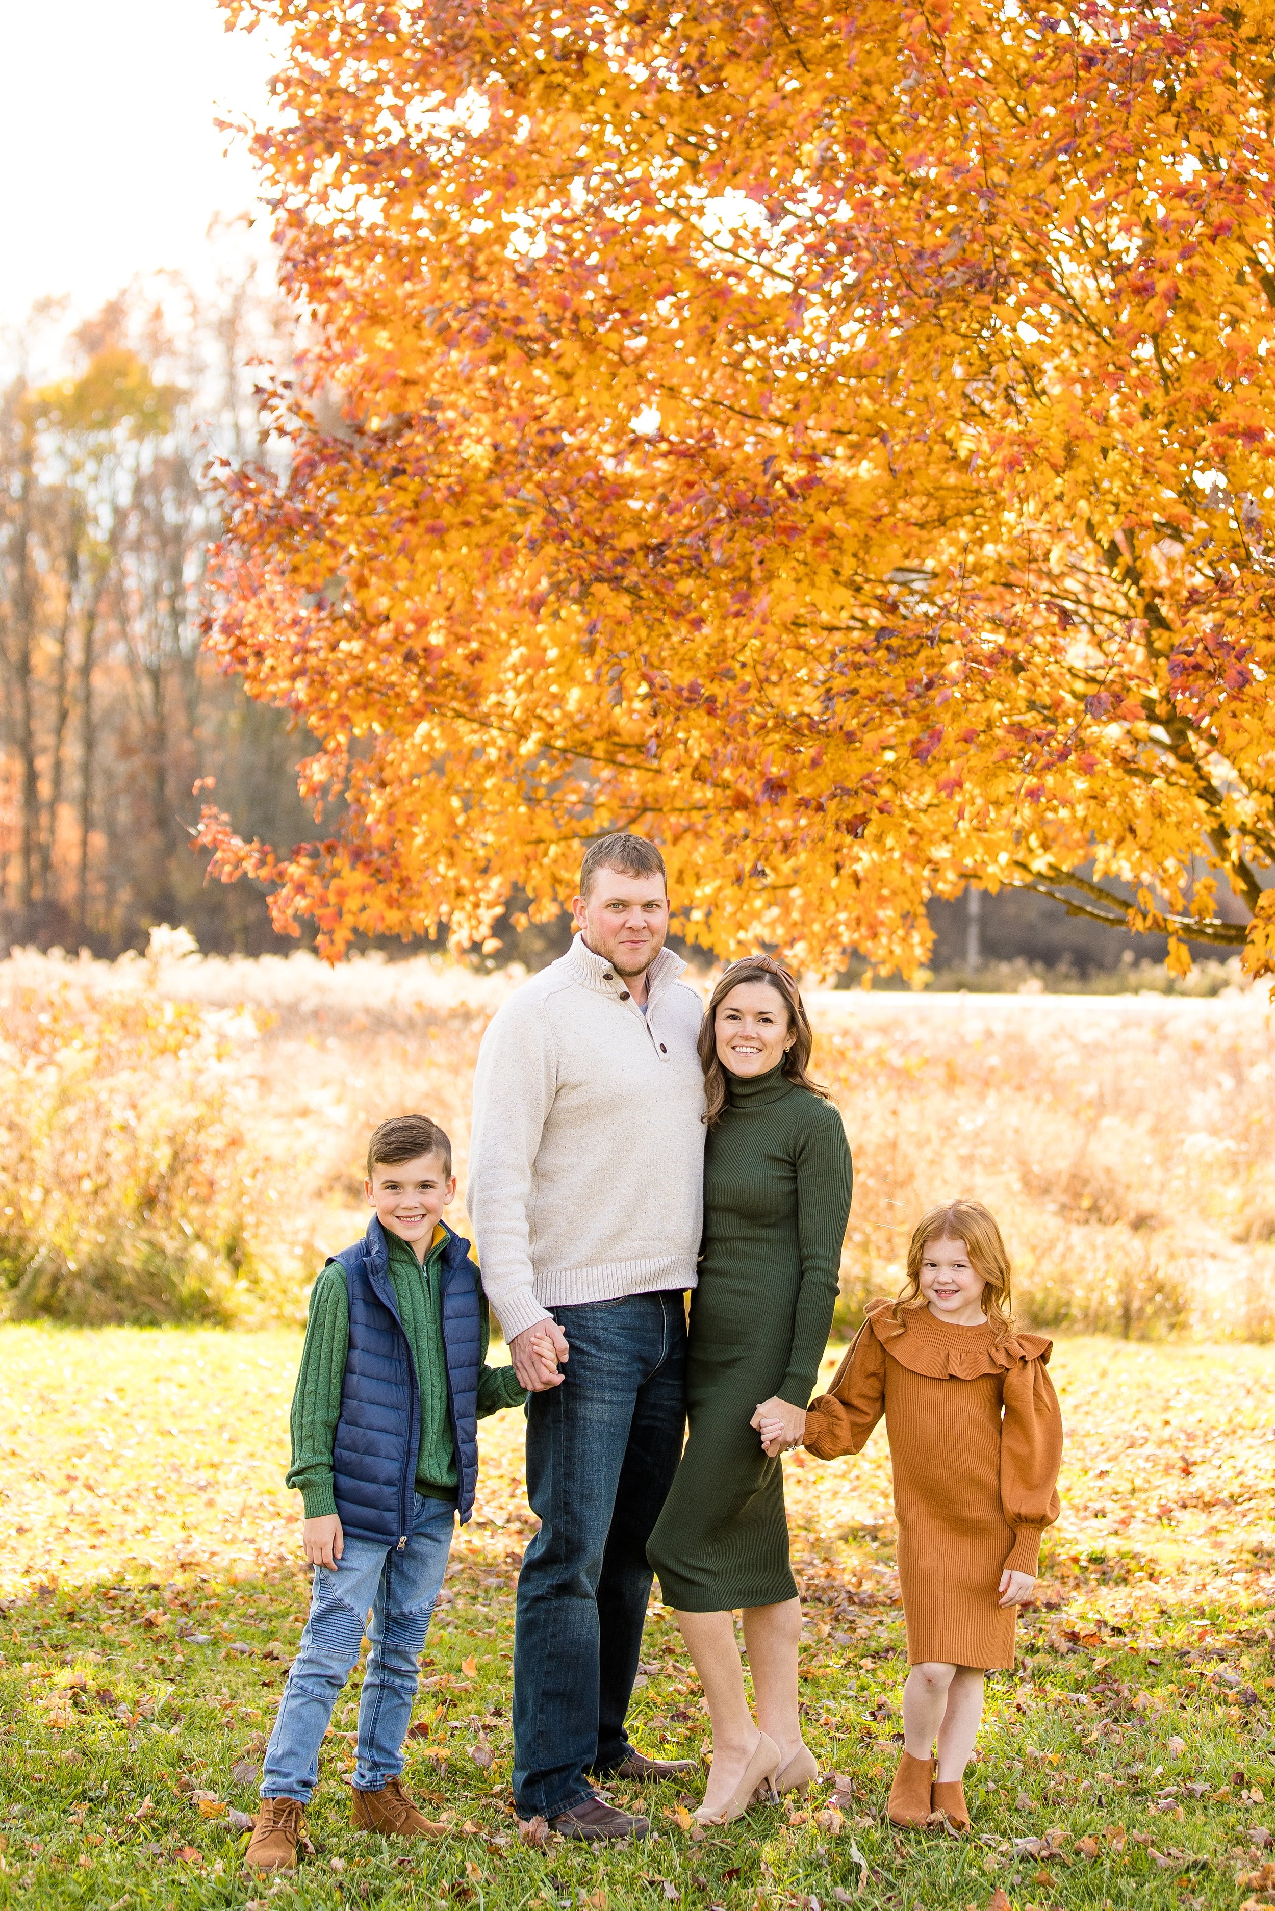
<svg viewBox="0 0 1275 1911">
<path fill-rule="evenodd" d="M 445 1225 L 451 1143 L 422 1114 L 382 1122 L 363 1191 L 377 1210 L 313 1284 L 292 1397 L 289 1487 L 306 1508 L 310 1619 L 283 1687 L 245 1863 L 291 1871 L 319 1745 L 357 1664 L 354 1823 L 403 1838 L 424 1819 L 401 1787 L 419 1657 L 447 1567 L 457 1510 L 474 1506 L 476 1422 L 526 1393 L 487 1366 L 487 1303 L 468 1240 Z"/>
</svg>

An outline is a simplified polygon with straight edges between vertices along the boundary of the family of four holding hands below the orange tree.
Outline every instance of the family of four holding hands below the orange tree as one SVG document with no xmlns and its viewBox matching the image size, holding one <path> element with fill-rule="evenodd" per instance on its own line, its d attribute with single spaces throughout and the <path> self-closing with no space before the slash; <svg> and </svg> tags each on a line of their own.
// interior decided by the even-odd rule
<svg viewBox="0 0 1275 1911">
<path fill-rule="evenodd" d="M 466 1194 L 482 1275 L 443 1221 L 451 1145 L 411 1114 L 373 1135 L 375 1215 L 313 1286 L 287 1475 L 313 1594 L 266 1752 L 252 1867 L 296 1863 L 319 1747 L 365 1636 L 354 1823 L 428 1829 L 401 1785 L 419 1657 L 455 1521 L 474 1506 L 478 1418 L 524 1403 L 539 1531 L 514 1634 L 522 1819 L 640 1838 L 648 1819 L 608 1781 L 700 1770 L 646 1756 L 625 1731 L 654 1575 L 709 1707 L 696 1815 L 726 1823 L 818 1777 L 797 1707 L 780 1456 L 858 1452 L 885 1416 L 912 1663 L 889 1815 L 969 1823 L 962 1775 L 983 1672 L 1013 1664 L 1015 1611 L 1057 1517 L 1049 1343 L 1013 1330 L 990 1213 L 950 1202 L 918 1225 L 900 1299 L 872 1303 L 810 1403 L 851 1154 L 807 1074 L 797 984 L 749 957 L 703 1011 L 665 948 L 663 862 L 642 837 L 587 850 L 573 917 L 570 952 L 482 1041 Z M 512 1366 L 487 1364 L 487 1305 Z"/>
</svg>

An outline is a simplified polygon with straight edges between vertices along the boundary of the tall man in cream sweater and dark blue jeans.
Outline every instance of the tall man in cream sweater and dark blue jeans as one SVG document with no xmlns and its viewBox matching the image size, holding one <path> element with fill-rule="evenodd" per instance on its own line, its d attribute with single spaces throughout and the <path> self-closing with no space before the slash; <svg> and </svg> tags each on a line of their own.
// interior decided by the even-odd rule
<svg viewBox="0 0 1275 1911">
<path fill-rule="evenodd" d="M 591 845 L 572 948 L 493 1017 L 478 1053 L 468 1212 L 528 1401 L 541 1531 L 518 1578 L 514 1798 L 570 1838 L 646 1836 L 589 1773 L 688 1764 L 625 1735 L 652 1571 L 682 1450 L 703 1204 L 700 998 L 665 950 L 663 858 Z M 537 1345 L 541 1351 L 537 1351 Z"/>
</svg>

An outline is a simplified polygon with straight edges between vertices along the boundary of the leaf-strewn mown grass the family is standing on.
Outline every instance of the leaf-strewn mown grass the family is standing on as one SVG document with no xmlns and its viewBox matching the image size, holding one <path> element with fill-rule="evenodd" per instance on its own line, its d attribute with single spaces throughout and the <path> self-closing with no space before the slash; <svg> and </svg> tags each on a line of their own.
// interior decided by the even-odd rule
<svg viewBox="0 0 1275 1911">
<path fill-rule="evenodd" d="M 788 1462 L 818 1793 L 696 1836 L 694 1787 L 663 1787 L 642 1848 L 524 1842 L 508 1657 L 529 1515 L 522 1420 L 505 1414 L 484 1426 L 478 1514 L 411 1737 L 407 1779 L 438 1835 L 392 1846 L 350 1829 L 356 1678 L 310 1812 L 313 1854 L 292 1882 L 247 1879 L 239 1827 L 306 1611 L 281 1487 L 296 1351 L 294 1332 L 0 1328 L 0 1903 L 1233 1911 L 1275 1898 L 1275 1351 L 1111 1340 L 1055 1353 L 1065 1514 L 1019 1672 L 988 1686 L 975 1836 L 900 1836 L 883 1819 L 904 1663 L 877 1437 L 858 1460 Z M 642 1663 L 637 1741 L 705 1749 L 659 1607 Z"/>
</svg>

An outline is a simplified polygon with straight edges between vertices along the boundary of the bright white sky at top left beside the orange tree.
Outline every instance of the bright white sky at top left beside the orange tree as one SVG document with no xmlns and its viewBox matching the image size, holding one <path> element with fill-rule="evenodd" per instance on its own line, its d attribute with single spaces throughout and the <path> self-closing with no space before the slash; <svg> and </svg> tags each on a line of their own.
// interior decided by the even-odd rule
<svg viewBox="0 0 1275 1911">
<path fill-rule="evenodd" d="M 216 0 L 0 0 L 0 329 L 69 294 L 78 317 L 136 273 L 214 275 L 214 214 L 256 210 L 243 147 L 218 113 L 266 105 L 258 34 Z M 254 241 L 266 245 L 266 222 Z M 6 354 L 8 355 L 8 354 Z"/>
</svg>

